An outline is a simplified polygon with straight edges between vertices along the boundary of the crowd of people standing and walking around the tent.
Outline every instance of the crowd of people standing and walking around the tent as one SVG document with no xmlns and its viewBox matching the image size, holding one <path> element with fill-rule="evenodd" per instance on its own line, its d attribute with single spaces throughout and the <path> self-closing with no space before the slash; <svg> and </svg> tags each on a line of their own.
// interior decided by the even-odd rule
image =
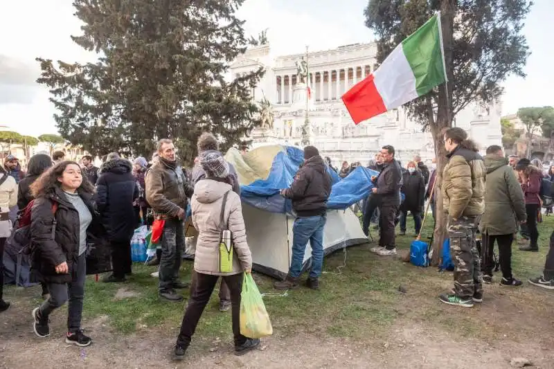
<svg viewBox="0 0 554 369">
<path fill-rule="evenodd" d="M 371 251 L 381 256 L 395 255 L 397 224 L 399 235 L 405 235 L 410 213 L 415 233 L 420 233 L 425 201 L 430 202 L 435 217 L 436 194 L 441 191 L 455 270 L 454 289 L 441 295 L 440 300 L 472 307 L 483 300 L 483 283 L 492 282 L 494 242 L 499 245 L 501 285 L 522 284 L 512 274 L 512 242 L 521 233 L 520 249 L 538 250 L 537 222 L 544 206 L 540 194 L 547 178 L 542 173 L 542 164 L 537 168 L 533 164 L 538 163 L 511 156 L 508 162 L 499 146 L 488 147 L 484 158 L 481 157 L 463 129 L 445 130 L 444 140 L 448 154 L 442 183 L 436 183 L 436 170 L 431 172 L 420 156 L 402 168 L 395 158 L 395 148 L 382 147 L 368 165 L 376 175 L 370 179 L 372 190 L 362 206 L 362 228 L 369 235 L 370 224 L 377 223 L 379 242 Z M 33 279 L 42 285 L 44 299 L 33 309 L 33 330 L 37 336 L 50 335 L 49 316 L 67 302 L 66 342 L 90 345 L 92 339 L 81 329 L 87 245 L 109 244 L 113 271 L 103 281 L 124 282 L 132 274 L 130 241 L 134 230 L 151 222 L 152 237 L 158 233 L 161 240 L 152 262 L 159 265 L 159 298 L 179 302 L 184 297 L 178 290 L 190 287 L 174 358 L 184 358 L 218 280 L 221 280 L 220 310 L 232 311 L 235 353 L 247 353 L 260 344 L 259 339 L 240 333 L 242 278 L 243 273 L 251 272 L 252 257 L 242 217 L 238 174 L 225 161 L 213 134 L 202 134 L 197 150 L 192 171 L 181 166 L 170 139 L 159 141 L 150 163 L 143 157 L 129 161 L 113 152 L 97 168 L 91 156 L 83 156 L 81 163 L 76 163 L 65 160 L 63 152 L 55 152 L 52 157 L 47 154 L 31 157 L 24 173 L 17 158 L 6 156 L 0 168 L 0 255 L 10 237 L 10 209 L 19 209 L 20 214 L 30 209 L 31 269 Z M 312 266 L 305 285 L 319 289 L 327 201 L 332 186 L 328 168 L 346 178 L 360 166 L 344 162 L 337 170 L 313 146 L 304 148 L 304 159 L 291 186 L 280 190 L 280 195 L 292 201 L 296 219 L 289 273 L 274 284 L 276 289 L 296 289 L 301 285 L 308 242 Z M 550 181 L 554 179 L 553 168 L 548 172 Z M 190 283 L 179 278 L 186 249 L 184 222 L 189 204 L 198 231 Z M 477 233 L 481 233 L 483 240 L 481 251 Z M 222 247 L 222 240 L 232 242 L 233 246 Z M 554 233 L 543 275 L 529 282 L 554 289 Z M 2 285 L 0 280 L 0 312 L 9 307 L 2 299 Z"/>
</svg>

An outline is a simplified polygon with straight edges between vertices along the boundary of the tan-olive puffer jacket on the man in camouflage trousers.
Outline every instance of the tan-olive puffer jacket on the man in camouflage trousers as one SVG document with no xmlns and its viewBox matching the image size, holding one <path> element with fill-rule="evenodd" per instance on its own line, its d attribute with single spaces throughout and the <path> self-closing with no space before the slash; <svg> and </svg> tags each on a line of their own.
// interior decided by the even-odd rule
<svg viewBox="0 0 554 369">
<path fill-rule="evenodd" d="M 443 171 L 444 209 L 450 217 L 476 217 L 485 212 L 485 163 L 479 153 L 461 145 L 447 154 Z"/>
</svg>

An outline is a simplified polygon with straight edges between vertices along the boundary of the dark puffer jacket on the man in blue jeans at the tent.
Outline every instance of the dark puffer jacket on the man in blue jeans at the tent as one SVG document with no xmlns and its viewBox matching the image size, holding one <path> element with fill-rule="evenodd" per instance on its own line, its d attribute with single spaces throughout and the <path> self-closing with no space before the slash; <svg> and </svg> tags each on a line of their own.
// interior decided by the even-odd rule
<svg viewBox="0 0 554 369">
<path fill-rule="evenodd" d="M 298 217 L 314 217 L 327 211 L 327 200 L 331 195 L 331 176 L 321 156 L 307 159 L 296 172 L 285 197 L 292 199 L 292 208 Z"/>
</svg>

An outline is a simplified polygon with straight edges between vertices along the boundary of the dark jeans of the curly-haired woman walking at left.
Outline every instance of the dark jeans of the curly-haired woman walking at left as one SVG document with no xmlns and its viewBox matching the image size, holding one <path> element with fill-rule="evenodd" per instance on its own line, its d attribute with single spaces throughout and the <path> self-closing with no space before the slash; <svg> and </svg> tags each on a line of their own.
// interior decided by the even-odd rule
<svg viewBox="0 0 554 369">
<path fill-rule="evenodd" d="M 77 262 L 73 262 L 70 271 L 71 282 L 48 283 L 50 298 L 39 307 L 39 313 L 43 321 L 48 321 L 48 316 L 64 305 L 69 299 L 67 311 L 67 330 L 75 333 L 81 329 L 82 301 L 84 299 L 84 280 L 87 278 L 87 260 L 82 253 Z"/>
</svg>

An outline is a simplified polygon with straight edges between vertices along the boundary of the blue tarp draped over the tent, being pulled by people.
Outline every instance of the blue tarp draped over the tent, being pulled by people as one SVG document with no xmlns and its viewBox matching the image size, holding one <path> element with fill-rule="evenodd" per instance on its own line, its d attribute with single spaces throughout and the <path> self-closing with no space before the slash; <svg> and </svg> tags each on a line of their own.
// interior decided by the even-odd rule
<svg viewBox="0 0 554 369">
<path fill-rule="evenodd" d="M 271 213 L 291 213 L 291 201 L 285 200 L 279 190 L 288 188 L 304 161 L 304 153 L 296 147 L 287 146 L 286 152 L 274 157 L 267 179 L 259 179 L 247 186 L 241 186 L 242 201 Z M 332 190 L 328 201 L 330 209 L 346 209 L 366 199 L 373 188 L 370 179 L 377 172 L 363 167 L 356 168 L 345 179 L 340 179 L 334 170 L 327 168 L 332 177 Z"/>
</svg>

